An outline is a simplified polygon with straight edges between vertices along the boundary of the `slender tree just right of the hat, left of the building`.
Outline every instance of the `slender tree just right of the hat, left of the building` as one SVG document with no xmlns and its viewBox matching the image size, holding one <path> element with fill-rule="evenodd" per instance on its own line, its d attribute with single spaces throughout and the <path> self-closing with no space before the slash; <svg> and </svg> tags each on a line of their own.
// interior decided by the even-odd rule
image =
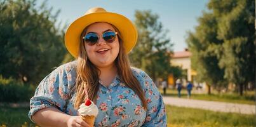
<svg viewBox="0 0 256 127">
<path fill-rule="evenodd" d="M 172 72 L 170 59 L 172 43 L 166 38 L 167 30 L 159 22 L 159 16 L 150 10 L 135 11 L 135 25 L 138 29 L 138 41 L 130 53 L 131 63 L 139 67 L 156 80 L 166 79 Z"/>
</svg>

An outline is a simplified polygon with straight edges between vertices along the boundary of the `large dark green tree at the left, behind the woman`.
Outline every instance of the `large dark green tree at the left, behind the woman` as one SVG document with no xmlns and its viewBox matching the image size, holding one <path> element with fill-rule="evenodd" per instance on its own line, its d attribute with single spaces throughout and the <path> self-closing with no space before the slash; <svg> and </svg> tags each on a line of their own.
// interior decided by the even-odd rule
<svg viewBox="0 0 256 127">
<path fill-rule="evenodd" d="M 45 4 L 8 0 L 0 3 L 0 74 L 38 83 L 64 58 L 64 32 L 55 27 L 58 12 Z"/>
</svg>

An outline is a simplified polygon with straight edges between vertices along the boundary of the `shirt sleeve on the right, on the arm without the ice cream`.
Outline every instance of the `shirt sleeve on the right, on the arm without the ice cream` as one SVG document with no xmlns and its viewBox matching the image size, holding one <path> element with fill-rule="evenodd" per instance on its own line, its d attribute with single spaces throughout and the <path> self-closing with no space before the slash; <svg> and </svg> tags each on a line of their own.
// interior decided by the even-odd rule
<svg viewBox="0 0 256 127">
<path fill-rule="evenodd" d="M 163 97 L 158 91 L 158 88 L 145 72 L 140 72 L 144 78 L 145 98 L 147 100 L 147 114 L 145 122 L 142 126 L 154 127 L 154 126 L 166 126 L 166 112 Z"/>
</svg>

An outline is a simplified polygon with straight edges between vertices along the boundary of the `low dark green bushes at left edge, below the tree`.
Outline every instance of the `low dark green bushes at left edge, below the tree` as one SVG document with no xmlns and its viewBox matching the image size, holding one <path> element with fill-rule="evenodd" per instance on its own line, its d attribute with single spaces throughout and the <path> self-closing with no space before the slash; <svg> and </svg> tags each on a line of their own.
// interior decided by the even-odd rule
<svg viewBox="0 0 256 127">
<path fill-rule="evenodd" d="M 0 76 L 0 102 L 28 102 L 34 95 L 35 87 L 15 79 Z"/>
</svg>

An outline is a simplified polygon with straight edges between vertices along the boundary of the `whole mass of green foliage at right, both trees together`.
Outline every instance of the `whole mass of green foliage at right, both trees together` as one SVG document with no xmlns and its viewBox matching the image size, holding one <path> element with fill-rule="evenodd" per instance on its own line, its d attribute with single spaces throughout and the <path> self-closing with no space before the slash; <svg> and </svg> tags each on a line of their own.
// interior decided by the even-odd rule
<svg viewBox="0 0 256 127">
<path fill-rule="evenodd" d="M 201 81 L 228 81 L 243 95 L 243 85 L 255 82 L 255 1 L 212 0 L 208 9 L 187 38 L 192 65 Z"/>
</svg>

